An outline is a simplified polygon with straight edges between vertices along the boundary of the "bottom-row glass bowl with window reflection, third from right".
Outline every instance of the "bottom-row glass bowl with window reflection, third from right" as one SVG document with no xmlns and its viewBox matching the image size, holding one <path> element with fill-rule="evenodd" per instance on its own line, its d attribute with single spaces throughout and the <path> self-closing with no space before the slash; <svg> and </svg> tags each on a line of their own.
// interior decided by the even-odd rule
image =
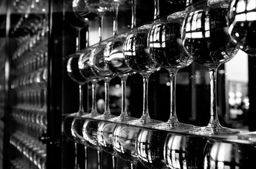
<svg viewBox="0 0 256 169">
<path fill-rule="evenodd" d="M 166 168 L 164 163 L 164 140 L 166 131 L 141 129 L 136 138 L 136 152 L 140 162 L 147 168 Z"/>
</svg>

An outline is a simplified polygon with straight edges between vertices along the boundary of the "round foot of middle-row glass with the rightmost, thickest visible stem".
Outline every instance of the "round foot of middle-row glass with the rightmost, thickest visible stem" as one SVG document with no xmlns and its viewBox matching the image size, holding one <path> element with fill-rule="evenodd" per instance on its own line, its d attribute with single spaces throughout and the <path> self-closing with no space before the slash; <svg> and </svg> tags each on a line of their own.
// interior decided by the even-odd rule
<svg viewBox="0 0 256 169">
<path fill-rule="evenodd" d="M 233 135 L 239 133 L 236 129 L 224 128 L 222 126 L 214 126 L 214 127 L 202 127 L 196 128 L 189 131 L 189 133 L 193 133 L 196 135 Z"/>
</svg>

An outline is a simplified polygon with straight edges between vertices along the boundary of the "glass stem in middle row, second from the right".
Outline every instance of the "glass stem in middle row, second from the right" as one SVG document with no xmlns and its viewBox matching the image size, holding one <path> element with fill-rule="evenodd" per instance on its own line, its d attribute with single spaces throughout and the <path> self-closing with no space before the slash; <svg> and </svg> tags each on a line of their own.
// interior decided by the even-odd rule
<svg viewBox="0 0 256 169">
<path fill-rule="evenodd" d="M 171 124 L 179 122 L 177 119 L 175 107 L 176 75 L 177 71 L 170 71 L 170 117 L 168 122 Z"/>
</svg>

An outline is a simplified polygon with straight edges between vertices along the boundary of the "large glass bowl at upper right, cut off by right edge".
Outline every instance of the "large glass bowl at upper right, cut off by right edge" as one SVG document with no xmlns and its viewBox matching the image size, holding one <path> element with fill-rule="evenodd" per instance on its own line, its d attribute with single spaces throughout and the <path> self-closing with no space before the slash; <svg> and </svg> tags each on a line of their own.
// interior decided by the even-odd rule
<svg viewBox="0 0 256 169">
<path fill-rule="evenodd" d="M 256 54 L 255 9 L 254 0 L 233 0 L 229 6 L 227 19 L 228 33 L 232 40 L 250 55 Z"/>
</svg>

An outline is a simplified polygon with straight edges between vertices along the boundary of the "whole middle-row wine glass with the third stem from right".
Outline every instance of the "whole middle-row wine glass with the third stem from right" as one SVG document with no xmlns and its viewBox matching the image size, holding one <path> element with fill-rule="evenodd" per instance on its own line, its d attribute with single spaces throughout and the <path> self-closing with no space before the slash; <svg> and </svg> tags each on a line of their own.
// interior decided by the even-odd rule
<svg viewBox="0 0 256 169">
<path fill-rule="evenodd" d="M 140 119 L 128 122 L 133 125 L 152 125 L 158 122 L 150 119 L 148 114 L 148 78 L 152 72 L 159 70 L 159 66 L 148 53 L 147 36 L 150 27 L 151 24 L 146 24 L 133 29 L 124 42 L 124 57 L 127 66 L 143 77 L 143 113 Z"/>
</svg>

